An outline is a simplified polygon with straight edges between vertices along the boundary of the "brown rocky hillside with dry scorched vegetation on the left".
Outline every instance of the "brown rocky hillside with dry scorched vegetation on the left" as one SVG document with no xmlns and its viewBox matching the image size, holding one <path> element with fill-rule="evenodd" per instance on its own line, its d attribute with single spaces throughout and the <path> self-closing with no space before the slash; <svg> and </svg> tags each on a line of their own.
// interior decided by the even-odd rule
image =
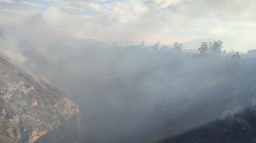
<svg viewBox="0 0 256 143">
<path fill-rule="evenodd" d="M 74 120 L 78 112 L 78 107 L 44 78 L 28 75 L 0 58 L 0 143 L 33 143 Z"/>
</svg>

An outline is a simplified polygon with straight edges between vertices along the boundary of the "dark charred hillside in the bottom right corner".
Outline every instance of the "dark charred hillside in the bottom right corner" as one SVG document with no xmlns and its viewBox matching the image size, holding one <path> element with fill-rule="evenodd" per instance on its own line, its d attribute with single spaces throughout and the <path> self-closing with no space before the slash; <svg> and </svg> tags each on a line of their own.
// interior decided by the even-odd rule
<svg viewBox="0 0 256 143">
<path fill-rule="evenodd" d="M 159 143 L 256 143 L 256 112 L 248 108 L 233 117 L 217 119 Z"/>
</svg>

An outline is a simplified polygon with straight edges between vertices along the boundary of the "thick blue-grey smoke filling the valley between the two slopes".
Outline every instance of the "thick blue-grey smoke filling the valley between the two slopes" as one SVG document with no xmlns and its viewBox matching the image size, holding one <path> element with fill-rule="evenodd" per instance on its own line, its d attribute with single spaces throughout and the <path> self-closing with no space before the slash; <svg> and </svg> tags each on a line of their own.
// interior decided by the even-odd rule
<svg viewBox="0 0 256 143">
<path fill-rule="evenodd" d="M 230 70 L 222 55 L 111 47 L 92 40 L 99 37 L 91 17 L 80 18 L 57 7 L 33 13 L 3 28 L 0 52 L 46 75 L 80 107 L 81 141 L 153 142 L 254 105 L 255 59 Z M 92 39 L 80 39 L 81 29 Z"/>
</svg>

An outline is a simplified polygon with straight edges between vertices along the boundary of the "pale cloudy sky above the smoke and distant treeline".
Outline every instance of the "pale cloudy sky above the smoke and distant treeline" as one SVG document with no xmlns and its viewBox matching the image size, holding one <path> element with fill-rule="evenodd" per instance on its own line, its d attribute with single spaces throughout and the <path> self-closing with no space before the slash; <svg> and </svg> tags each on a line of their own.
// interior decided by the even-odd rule
<svg viewBox="0 0 256 143">
<path fill-rule="evenodd" d="M 119 45 L 227 39 L 246 51 L 256 48 L 256 0 L 0 0 L 0 30 L 24 26 Z"/>
</svg>

